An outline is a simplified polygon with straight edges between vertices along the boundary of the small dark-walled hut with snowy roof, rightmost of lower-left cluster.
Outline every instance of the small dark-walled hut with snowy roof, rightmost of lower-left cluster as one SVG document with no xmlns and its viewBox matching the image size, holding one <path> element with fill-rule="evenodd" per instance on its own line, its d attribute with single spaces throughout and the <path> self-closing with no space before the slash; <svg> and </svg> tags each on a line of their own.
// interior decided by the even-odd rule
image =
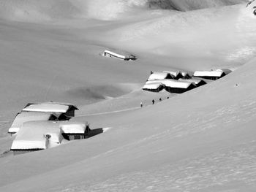
<svg viewBox="0 0 256 192">
<path fill-rule="evenodd" d="M 75 121 L 60 123 L 60 128 L 63 137 L 67 140 L 85 139 L 90 131 L 89 125 L 86 125 L 86 123 Z"/>
</svg>

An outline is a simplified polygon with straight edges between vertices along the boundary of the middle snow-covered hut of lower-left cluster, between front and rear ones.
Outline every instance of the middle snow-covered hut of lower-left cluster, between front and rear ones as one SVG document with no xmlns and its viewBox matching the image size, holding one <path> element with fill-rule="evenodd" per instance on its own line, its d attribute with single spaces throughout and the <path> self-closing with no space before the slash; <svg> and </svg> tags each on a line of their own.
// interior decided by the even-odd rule
<svg viewBox="0 0 256 192">
<path fill-rule="evenodd" d="M 9 128 L 9 134 L 15 134 L 20 130 L 23 123 L 31 120 L 56 120 L 56 115 L 49 112 L 18 112 Z"/>
</svg>

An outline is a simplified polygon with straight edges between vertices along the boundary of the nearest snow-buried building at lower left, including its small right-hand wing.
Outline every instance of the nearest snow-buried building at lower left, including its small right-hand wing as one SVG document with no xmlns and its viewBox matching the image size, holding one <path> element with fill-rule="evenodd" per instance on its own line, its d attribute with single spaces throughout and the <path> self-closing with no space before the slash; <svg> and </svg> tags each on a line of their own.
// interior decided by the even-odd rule
<svg viewBox="0 0 256 192">
<path fill-rule="evenodd" d="M 26 153 L 56 147 L 65 139 L 84 139 L 89 126 L 82 122 L 34 120 L 23 123 L 12 142 L 11 150 Z"/>
</svg>

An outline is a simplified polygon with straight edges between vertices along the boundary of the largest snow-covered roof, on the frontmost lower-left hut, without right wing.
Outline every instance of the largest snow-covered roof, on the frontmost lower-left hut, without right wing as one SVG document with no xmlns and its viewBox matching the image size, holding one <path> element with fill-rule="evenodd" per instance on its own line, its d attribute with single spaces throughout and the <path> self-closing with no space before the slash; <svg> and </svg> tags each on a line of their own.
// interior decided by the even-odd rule
<svg viewBox="0 0 256 192">
<path fill-rule="evenodd" d="M 50 135 L 49 142 L 45 138 Z M 63 139 L 59 122 L 37 120 L 23 123 L 17 137 L 12 142 L 11 150 L 37 150 L 55 147 Z"/>
</svg>

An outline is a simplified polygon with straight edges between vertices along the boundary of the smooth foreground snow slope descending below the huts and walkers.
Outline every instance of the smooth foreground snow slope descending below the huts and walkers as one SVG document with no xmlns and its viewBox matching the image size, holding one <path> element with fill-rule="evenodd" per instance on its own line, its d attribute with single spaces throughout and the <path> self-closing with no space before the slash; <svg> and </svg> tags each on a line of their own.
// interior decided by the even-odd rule
<svg viewBox="0 0 256 192">
<path fill-rule="evenodd" d="M 255 188 L 255 72 L 254 60 L 222 80 L 157 105 L 118 116 L 103 115 L 102 125 L 111 125 L 112 129 L 99 137 L 3 158 L 1 185 L 6 186 L 0 189 Z M 42 169 L 45 161 L 49 166 Z"/>
</svg>

